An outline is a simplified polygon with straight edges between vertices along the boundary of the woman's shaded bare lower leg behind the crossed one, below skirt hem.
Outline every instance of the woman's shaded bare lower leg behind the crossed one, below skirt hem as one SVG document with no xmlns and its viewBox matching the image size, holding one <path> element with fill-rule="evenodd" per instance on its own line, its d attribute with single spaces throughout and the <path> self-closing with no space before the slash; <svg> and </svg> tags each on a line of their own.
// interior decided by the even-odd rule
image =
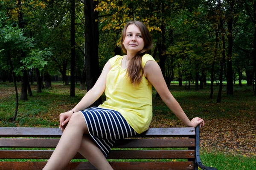
<svg viewBox="0 0 256 170">
<path fill-rule="evenodd" d="M 79 153 L 98 170 L 113 170 L 99 147 L 88 135 L 84 135 Z"/>
</svg>

